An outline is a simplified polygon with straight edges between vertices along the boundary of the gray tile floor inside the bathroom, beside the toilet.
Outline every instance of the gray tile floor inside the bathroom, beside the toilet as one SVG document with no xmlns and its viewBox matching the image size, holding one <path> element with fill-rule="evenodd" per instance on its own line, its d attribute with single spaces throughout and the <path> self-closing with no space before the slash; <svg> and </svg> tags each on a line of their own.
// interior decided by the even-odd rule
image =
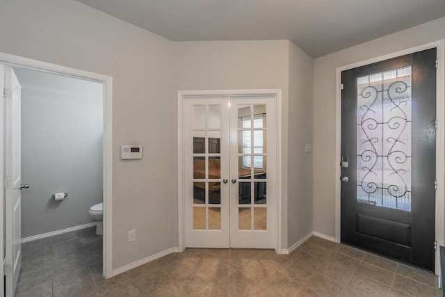
<svg viewBox="0 0 445 297">
<path fill-rule="evenodd" d="M 83 296 L 88 288 L 94 293 L 93 279 L 102 278 L 102 236 L 95 231 L 90 227 L 23 243 L 15 296 Z"/>
</svg>

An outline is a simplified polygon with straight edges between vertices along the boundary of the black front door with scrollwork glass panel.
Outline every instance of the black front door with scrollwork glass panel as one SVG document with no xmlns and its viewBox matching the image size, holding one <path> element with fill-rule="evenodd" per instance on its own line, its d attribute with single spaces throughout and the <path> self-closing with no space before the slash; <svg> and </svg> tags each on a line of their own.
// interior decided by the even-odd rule
<svg viewBox="0 0 445 297">
<path fill-rule="evenodd" d="M 436 49 L 342 72 L 341 241 L 434 270 Z"/>
</svg>

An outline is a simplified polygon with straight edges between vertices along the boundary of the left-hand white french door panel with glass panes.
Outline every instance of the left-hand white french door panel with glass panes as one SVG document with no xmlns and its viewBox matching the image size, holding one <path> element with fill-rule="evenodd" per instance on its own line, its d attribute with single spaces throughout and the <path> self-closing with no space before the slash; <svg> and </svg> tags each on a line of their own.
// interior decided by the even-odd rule
<svg viewBox="0 0 445 297">
<path fill-rule="evenodd" d="M 184 105 L 186 247 L 229 248 L 229 98 Z"/>
</svg>

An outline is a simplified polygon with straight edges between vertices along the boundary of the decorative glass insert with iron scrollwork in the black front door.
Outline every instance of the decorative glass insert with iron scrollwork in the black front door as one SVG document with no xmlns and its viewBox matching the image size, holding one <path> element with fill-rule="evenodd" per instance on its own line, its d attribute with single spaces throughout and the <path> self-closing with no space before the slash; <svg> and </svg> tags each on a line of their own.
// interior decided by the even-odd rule
<svg viewBox="0 0 445 297">
<path fill-rule="evenodd" d="M 411 211 L 411 70 L 357 78 L 357 202 Z"/>
</svg>

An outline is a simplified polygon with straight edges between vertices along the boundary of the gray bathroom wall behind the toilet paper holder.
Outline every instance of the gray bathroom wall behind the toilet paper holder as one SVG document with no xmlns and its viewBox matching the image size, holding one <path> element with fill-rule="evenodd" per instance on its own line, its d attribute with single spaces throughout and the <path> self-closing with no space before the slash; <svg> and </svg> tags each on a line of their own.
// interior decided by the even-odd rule
<svg viewBox="0 0 445 297">
<path fill-rule="evenodd" d="M 15 67 L 22 85 L 22 237 L 91 223 L 102 202 L 103 86 Z M 56 202 L 51 194 L 67 192 Z"/>
</svg>

